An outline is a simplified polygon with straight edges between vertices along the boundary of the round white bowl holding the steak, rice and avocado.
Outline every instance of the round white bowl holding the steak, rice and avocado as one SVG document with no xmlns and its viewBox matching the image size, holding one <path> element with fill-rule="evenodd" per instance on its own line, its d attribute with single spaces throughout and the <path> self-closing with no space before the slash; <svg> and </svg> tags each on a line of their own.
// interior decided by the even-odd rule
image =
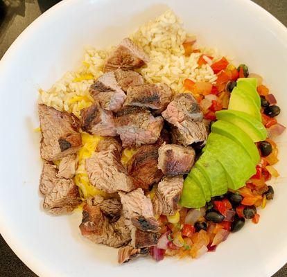
<svg viewBox="0 0 287 277">
<path fill-rule="evenodd" d="M 39 17 L 0 62 L 1 191 L 0 231 L 17 256 L 39 276 L 271 276 L 287 260 L 287 132 L 279 139 L 281 177 L 275 199 L 258 225 L 229 236 L 215 253 L 198 260 L 138 259 L 116 265 L 116 250 L 82 238 L 80 213 L 52 217 L 42 211 L 36 102 L 74 69 L 87 45 L 116 44 L 167 8 L 175 10 L 201 44 L 220 49 L 263 75 L 277 97 L 287 125 L 285 103 L 287 31 L 268 12 L 247 0 L 69 0 Z"/>
</svg>

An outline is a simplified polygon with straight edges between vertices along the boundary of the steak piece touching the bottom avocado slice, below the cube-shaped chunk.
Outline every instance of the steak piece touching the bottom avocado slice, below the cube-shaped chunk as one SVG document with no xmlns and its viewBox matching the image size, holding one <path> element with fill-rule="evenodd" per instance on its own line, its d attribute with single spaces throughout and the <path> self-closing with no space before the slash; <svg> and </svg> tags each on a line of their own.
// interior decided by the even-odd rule
<svg viewBox="0 0 287 277">
<path fill-rule="evenodd" d="M 155 215 L 174 215 L 180 208 L 178 202 L 182 195 L 183 177 L 164 177 L 157 186 L 153 197 Z"/>
</svg>

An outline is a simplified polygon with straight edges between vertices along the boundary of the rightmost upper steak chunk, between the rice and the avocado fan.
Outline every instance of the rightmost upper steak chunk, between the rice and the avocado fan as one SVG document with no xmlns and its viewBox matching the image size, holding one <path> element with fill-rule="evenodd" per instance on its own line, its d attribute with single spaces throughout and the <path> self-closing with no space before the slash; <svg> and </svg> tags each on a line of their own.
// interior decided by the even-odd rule
<svg viewBox="0 0 287 277">
<path fill-rule="evenodd" d="M 162 116 L 171 124 L 173 143 L 186 146 L 206 141 L 207 129 L 202 122 L 202 112 L 190 93 L 177 94 Z"/>
</svg>

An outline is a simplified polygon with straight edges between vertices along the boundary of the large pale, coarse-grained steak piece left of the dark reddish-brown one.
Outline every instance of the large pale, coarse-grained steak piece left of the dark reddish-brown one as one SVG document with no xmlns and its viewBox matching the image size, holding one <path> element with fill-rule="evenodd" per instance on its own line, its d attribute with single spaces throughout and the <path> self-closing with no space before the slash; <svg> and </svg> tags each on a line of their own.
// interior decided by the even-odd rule
<svg viewBox="0 0 287 277">
<path fill-rule="evenodd" d="M 120 154 L 116 146 L 111 144 L 108 150 L 95 152 L 86 159 L 85 168 L 89 181 L 93 186 L 105 193 L 125 192 L 134 189 L 131 177 L 120 161 Z"/>
</svg>

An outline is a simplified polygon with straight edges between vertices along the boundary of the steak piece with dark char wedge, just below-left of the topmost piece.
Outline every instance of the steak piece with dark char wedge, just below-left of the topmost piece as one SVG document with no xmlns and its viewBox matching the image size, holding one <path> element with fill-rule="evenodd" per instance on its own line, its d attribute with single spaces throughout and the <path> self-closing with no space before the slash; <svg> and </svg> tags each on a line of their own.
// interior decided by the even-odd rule
<svg viewBox="0 0 287 277">
<path fill-rule="evenodd" d="M 90 87 L 90 93 L 101 107 L 108 111 L 118 111 L 126 98 L 125 93 L 116 82 L 114 72 L 101 75 Z"/>
</svg>

